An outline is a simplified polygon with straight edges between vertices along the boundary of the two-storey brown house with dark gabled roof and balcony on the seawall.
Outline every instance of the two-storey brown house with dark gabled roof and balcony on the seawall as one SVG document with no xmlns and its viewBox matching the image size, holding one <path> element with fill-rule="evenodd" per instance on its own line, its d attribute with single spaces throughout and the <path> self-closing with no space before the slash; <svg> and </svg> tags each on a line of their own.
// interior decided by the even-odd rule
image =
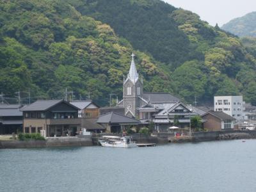
<svg viewBox="0 0 256 192">
<path fill-rule="evenodd" d="M 45 136 L 75 136 L 81 128 L 80 109 L 65 100 L 37 100 L 22 108 L 23 132 L 45 131 Z"/>
</svg>

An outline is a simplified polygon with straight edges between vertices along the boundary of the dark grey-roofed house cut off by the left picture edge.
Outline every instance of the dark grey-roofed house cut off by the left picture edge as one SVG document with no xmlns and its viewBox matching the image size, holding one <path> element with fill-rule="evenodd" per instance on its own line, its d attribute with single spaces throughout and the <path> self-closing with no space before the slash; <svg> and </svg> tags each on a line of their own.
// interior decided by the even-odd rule
<svg viewBox="0 0 256 192">
<path fill-rule="evenodd" d="M 0 134 L 22 131 L 22 112 L 18 104 L 0 104 Z"/>
</svg>

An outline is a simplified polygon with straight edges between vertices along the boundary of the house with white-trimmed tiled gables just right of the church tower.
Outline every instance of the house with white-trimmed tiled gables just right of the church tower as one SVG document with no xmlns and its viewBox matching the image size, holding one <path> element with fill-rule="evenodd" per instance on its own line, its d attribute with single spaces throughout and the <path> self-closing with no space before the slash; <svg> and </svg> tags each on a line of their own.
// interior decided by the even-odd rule
<svg viewBox="0 0 256 192">
<path fill-rule="evenodd" d="M 178 125 L 180 128 L 190 127 L 190 118 L 198 115 L 182 102 L 170 103 L 148 103 L 141 108 L 140 121 L 142 124 L 155 124 L 156 131 L 168 131 L 172 125 Z"/>
</svg>

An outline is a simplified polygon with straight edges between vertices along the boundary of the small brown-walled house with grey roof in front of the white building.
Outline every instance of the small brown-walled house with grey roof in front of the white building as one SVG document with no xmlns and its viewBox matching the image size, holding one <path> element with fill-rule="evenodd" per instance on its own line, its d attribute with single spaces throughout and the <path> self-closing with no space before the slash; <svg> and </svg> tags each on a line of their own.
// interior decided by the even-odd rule
<svg viewBox="0 0 256 192">
<path fill-rule="evenodd" d="M 234 129 L 236 118 L 223 111 L 209 111 L 202 115 L 204 128 L 208 131 L 224 131 Z"/>
</svg>

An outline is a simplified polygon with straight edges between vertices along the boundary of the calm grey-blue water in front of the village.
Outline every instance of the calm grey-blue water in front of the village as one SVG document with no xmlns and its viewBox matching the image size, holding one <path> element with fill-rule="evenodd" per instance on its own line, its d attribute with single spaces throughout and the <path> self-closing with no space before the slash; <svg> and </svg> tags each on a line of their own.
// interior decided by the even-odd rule
<svg viewBox="0 0 256 192">
<path fill-rule="evenodd" d="M 256 191 L 256 140 L 0 150 L 0 191 Z"/>
</svg>

